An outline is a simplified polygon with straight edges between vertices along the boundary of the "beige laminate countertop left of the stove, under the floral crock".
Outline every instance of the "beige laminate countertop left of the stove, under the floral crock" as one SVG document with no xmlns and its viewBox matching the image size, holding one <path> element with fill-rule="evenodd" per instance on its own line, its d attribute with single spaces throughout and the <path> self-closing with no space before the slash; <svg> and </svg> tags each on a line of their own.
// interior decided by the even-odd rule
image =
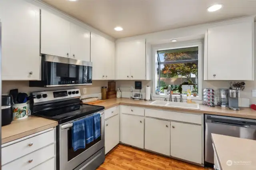
<svg viewBox="0 0 256 170">
<path fill-rule="evenodd" d="M 2 127 L 2 144 L 23 138 L 30 134 L 56 127 L 58 122 L 42 117 L 29 116 L 27 119 L 12 121 L 10 125 Z"/>
</svg>

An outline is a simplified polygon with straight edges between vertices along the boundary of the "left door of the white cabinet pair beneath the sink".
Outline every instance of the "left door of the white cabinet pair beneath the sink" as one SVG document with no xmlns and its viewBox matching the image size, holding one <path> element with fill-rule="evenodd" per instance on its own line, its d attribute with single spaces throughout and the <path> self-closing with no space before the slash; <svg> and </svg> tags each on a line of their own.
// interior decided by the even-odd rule
<svg viewBox="0 0 256 170">
<path fill-rule="evenodd" d="M 145 118 L 145 149 L 170 156 L 170 122 Z"/>
</svg>

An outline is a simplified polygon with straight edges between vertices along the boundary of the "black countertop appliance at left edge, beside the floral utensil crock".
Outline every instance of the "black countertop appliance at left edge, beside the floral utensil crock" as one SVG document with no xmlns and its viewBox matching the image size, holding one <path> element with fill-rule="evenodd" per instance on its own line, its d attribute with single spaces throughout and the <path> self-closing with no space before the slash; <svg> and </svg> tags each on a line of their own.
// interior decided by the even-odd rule
<svg viewBox="0 0 256 170">
<path fill-rule="evenodd" d="M 9 125 L 12 122 L 12 96 L 2 95 L 2 126 Z"/>
</svg>

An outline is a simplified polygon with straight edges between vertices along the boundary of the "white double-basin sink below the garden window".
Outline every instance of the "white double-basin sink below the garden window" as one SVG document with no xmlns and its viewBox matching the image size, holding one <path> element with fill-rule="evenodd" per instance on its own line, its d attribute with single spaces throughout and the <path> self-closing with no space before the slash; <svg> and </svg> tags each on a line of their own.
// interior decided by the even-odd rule
<svg viewBox="0 0 256 170">
<path fill-rule="evenodd" d="M 152 101 L 150 105 L 162 106 L 162 107 L 176 107 L 182 109 L 195 109 L 200 110 L 200 105 L 198 103 L 181 103 L 181 102 L 171 102 L 171 101 Z"/>
</svg>

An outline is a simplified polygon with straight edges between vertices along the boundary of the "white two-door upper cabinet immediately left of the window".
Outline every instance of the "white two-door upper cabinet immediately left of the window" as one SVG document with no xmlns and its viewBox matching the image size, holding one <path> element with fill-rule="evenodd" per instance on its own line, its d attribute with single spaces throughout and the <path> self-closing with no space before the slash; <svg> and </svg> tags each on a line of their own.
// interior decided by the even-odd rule
<svg viewBox="0 0 256 170">
<path fill-rule="evenodd" d="M 146 79 L 146 40 L 116 42 L 116 79 Z"/>
</svg>

